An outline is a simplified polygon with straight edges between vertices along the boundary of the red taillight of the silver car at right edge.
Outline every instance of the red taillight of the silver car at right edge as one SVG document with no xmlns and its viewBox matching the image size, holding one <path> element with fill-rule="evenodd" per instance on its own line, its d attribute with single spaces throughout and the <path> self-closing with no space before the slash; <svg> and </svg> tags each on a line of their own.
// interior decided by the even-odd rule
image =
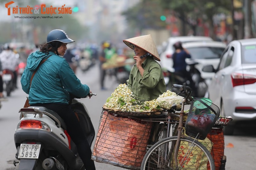
<svg viewBox="0 0 256 170">
<path fill-rule="evenodd" d="M 256 82 L 256 76 L 250 74 L 232 73 L 231 74 L 232 86 L 240 86 L 246 84 L 253 84 Z"/>
</svg>

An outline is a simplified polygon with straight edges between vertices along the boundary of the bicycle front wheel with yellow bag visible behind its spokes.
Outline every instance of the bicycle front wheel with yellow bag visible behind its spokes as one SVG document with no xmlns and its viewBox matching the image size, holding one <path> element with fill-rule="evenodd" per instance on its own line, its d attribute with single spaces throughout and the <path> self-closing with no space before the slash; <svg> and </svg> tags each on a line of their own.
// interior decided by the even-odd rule
<svg viewBox="0 0 256 170">
<path fill-rule="evenodd" d="M 193 138 L 180 138 L 177 155 L 178 166 L 174 161 L 174 148 L 177 136 L 165 138 L 153 145 L 144 156 L 141 170 L 214 170 L 211 153 Z"/>
</svg>

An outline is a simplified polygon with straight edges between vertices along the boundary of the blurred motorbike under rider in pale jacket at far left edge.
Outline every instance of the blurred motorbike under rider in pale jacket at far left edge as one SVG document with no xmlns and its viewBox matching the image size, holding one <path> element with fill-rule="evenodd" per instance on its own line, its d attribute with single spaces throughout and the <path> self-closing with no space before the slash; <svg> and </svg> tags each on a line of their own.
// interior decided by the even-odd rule
<svg viewBox="0 0 256 170">
<path fill-rule="evenodd" d="M 3 88 L 6 92 L 6 96 L 10 96 L 11 92 L 15 89 L 13 84 L 14 74 L 9 69 L 4 69 L 2 72 Z"/>
</svg>

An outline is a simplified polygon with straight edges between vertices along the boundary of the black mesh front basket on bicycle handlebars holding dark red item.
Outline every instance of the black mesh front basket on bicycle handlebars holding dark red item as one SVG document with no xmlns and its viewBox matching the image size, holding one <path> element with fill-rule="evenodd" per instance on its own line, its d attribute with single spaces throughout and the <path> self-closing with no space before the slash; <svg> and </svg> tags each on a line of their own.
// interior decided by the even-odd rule
<svg viewBox="0 0 256 170">
<path fill-rule="evenodd" d="M 219 116 L 219 107 L 210 99 L 193 98 L 185 123 L 186 134 L 193 138 L 205 139 Z"/>
</svg>

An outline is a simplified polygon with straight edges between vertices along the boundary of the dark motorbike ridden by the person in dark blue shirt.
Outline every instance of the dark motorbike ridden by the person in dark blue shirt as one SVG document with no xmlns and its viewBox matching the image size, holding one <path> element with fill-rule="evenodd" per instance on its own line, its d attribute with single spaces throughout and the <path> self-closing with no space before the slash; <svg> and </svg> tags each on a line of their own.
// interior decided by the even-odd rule
<svg viewBox="0 0 256 170">
<path fill-rule="evenodd" d="M 187 61 L 188 72 L 191 75 L 192 80 L 194 82 L 189 82 L 189 80 L 186 77 L 175 73 L 174 70 L 173 70 L 173 72 L 164 70 L 163 74 L 164 74 L 164 81 L 166 84 L 166 89 L 169 89 L 173 92 L 179 93 L 177 91 L 177 89 L 172 87 L 173 84 L 186 83 L 187 86 L 191 86 L 191 83 L 194 83 L 195 89 L 192 91 L 193 96 L 204 97 L 205 93 L 207 92 L 208 86 L 207 86 L 205 80 L 201 77 L 200 71 L 198 71 L 196 69 L 196 67 L 195 67 L 196 64 L 198 64 L 198 62 L 196 62 L 194 60 Z"/>
</svg>

